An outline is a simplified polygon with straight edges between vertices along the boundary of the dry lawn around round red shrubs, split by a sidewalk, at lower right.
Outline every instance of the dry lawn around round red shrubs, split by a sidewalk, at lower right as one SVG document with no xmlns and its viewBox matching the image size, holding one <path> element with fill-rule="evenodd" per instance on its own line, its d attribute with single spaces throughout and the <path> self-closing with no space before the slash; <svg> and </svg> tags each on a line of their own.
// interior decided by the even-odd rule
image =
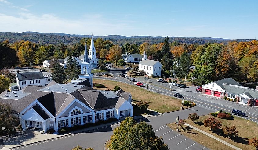
<svg viewBox="0 0 258 150">
<path fill-rule="evenodd" d="M 199 129 L 201 129 L 202 131 L 205 131 L 209 134 L 212 134 L 213 136 L 220 138 L 223 141 L 226 141 L 238 148 L 241 148 L 243 150 L 255 150 L 254 147 L 248 145 L 248 141 L 250 138 L 254 138 L 255 136 L 257 136 L 257 133 L 258 133 L 257 132 L 258 127 L 256 125 L 257 123 L 255 123 L 253 121 L 248 122 L 248 120 L 245 120 L 241 117 L 236 117 L 236 116 L 234 116 L 234 120 L 226 120 L 226 119 L 220 119 L 218 117 L 214 117 L 217 120 L 221 121 L 222 127 L 221 127 L 221 130 L 219 130 L 218 132 L 212 133 L 212 131 L 210 131 L 210 129 L 208 127 L 205 127 L 203 125 L 204 120 L 207 119 L 208 117 L 213 117 L 213 116 L 212 115 L 200 116 L 200 118 L 195 121 L 197 123 L 193 123 L 192 120 L 190 120 L 190 119 L 186 119 L 185 121 L 187 124 L 197 127 Z M 239 131 L 239 133 L 238 133 L 237 138 L 234 138 L 231 140 L 228 137 L 223 135 L 222 128 L 225 126 L 231 127 L 233 125 L 236 127 L 236 130 Z M 176 124 L 171 123 L 171 124 L 169 124 L 169 127 L 175 129 Z M 223 145 L 221 142 L 206 136 L 205 134 L 198 133 L 198 131 L 195 131 L 193 129 L 191 131 L 183 131 L 182 129 L 180 129 L 180 130 L 182 131 L 182 132 L 180 132 L 180 134 L 183 134 L 210 149 L 214 149 L 214 150 L 232 149 L 232 148 L 228 147 L 227 145 Z M 198 133 L 198 134 L 196 134 L 196 133 Z"/>
</svg>

